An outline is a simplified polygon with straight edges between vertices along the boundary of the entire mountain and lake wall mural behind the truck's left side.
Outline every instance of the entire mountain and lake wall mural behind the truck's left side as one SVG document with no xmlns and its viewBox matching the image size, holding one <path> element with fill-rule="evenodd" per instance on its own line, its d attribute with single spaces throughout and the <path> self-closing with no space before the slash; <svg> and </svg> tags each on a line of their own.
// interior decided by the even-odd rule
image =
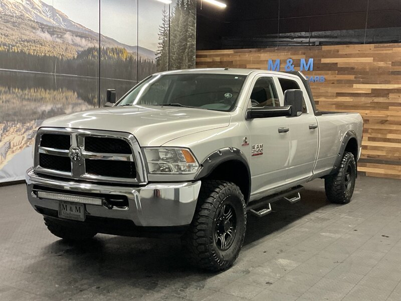
<svg viewBox="0 0 401 301">
<path fill-rule="evenodd" d="M 51 0 L 0 0 L 0 182 L 24 179 L 44 119 L 102 106 L 106 89 L 119 98 L 155 72 L 194 67 L 195 0 L 138 0 L 140 12 L 134 1 L 101 1 L 54 1 L 59 10 Z M 100 21 L 86 22 L 102 13 L 128 22 L 104 22 L 99 36 Z M 132 36 L 157 49 L 119 41 Z"/>
</svg>

